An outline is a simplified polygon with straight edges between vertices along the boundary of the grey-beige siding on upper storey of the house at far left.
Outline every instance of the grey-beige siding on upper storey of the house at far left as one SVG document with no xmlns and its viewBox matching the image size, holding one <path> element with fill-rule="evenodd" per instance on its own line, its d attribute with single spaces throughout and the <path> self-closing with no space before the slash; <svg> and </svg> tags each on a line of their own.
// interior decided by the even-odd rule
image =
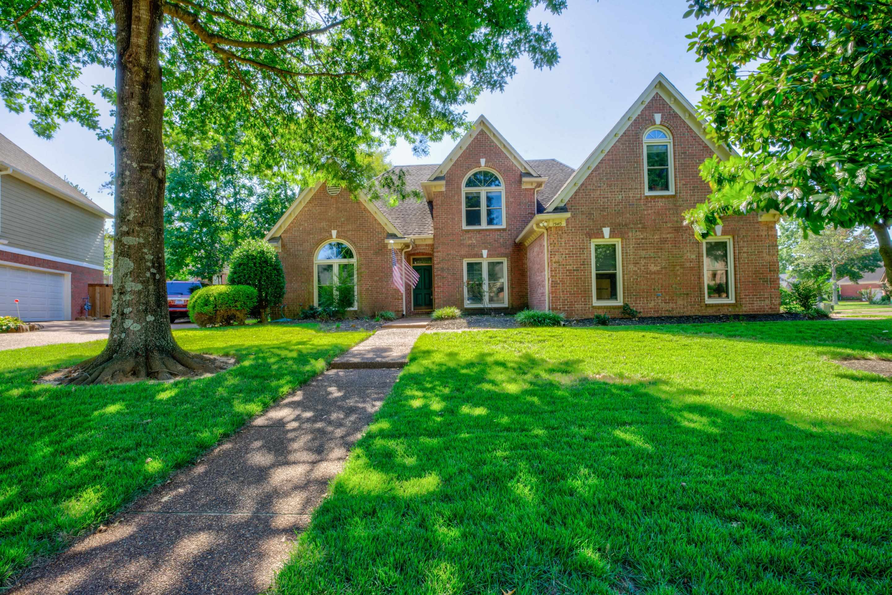
<svg viewBox="0 0 892 595">
<path fill-rule="evenodd" d="M 0 178 L 0 239 L 12 248 L 103 265 L 105 219 L 12 176 Z"/>
</svg>

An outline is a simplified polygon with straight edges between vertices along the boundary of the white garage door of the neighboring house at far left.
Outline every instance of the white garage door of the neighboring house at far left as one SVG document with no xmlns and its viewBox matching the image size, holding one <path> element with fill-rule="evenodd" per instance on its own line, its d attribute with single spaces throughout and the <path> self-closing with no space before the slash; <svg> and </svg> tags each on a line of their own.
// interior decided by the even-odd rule
<svg viewBox="0 0 892 595">
<path fill-rule="evenodd" d="M 62 320 L 64 284 L 58 273 L 0 265 L 0 316 L 18 316 L 13 300 L 19 300 L 22 320 Z"/>
</svg>

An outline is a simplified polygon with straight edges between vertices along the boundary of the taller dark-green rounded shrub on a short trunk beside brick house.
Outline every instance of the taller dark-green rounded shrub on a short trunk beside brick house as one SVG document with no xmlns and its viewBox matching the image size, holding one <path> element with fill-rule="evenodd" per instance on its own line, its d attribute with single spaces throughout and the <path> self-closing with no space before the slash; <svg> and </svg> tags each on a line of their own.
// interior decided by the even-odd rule
<svg viewBox="0 0 892 595">
<path fill-rule="evenodd" d="M 257 290 L 260 322 L 267 321 L 267 311 L 285 299 L 285 270 L 276 249 L 263 240 L 247 240 L 239 245 L 229 260 L 228 283 L 251 285 Z"/>
</svg>

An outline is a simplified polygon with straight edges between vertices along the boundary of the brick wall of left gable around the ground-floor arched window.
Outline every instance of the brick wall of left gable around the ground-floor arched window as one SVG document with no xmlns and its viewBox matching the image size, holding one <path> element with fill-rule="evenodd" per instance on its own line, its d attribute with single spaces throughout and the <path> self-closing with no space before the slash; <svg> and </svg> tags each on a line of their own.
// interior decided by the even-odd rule
<svg viewBox="0 0 892 595">
<path fill-rule="evenodd" d="M 358 313 L 391 310 L 400 316 L 402 295 L 391 283 L 384 227 L 346 189 L 332 196 L 324 184 L 282 232 L 279 258 L 285 268 L 285 316 L 294 318 L 313 305 L 316 252 L 332 240 L 332 230 L 356 255 Z"/>
</svg>

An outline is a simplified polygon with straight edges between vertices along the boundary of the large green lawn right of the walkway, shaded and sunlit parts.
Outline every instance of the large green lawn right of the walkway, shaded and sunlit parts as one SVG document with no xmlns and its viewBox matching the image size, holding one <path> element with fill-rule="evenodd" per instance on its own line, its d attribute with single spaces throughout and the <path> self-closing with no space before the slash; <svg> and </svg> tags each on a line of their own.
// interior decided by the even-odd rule
<svg viewBox="0 0 892 595">
<path fill-rule="evenodd" d="M 884 331 L 424 335 L 278 592 L 892 592 Z"/>
</svg>

